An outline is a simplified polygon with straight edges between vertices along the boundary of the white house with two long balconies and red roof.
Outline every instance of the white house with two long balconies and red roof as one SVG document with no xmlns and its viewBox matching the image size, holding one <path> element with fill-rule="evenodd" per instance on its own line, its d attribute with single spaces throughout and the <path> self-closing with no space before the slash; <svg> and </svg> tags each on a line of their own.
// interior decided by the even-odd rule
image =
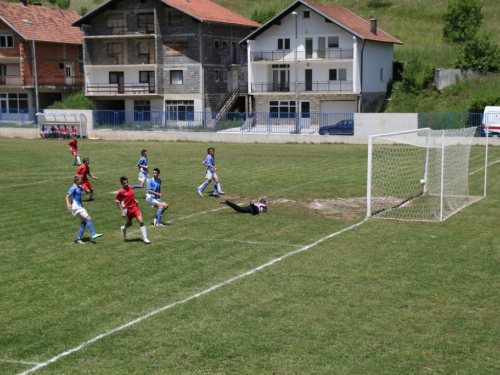
<svg viewBox="0 0 500 375">
<path fill-rule="evenodd" d="M 392 80 L 393 46 L 402 42 L 376 22 L 331 5 L 291 4 L 240 41 L 249 107 L 276 117 L 300 113 L 306 122 L 312 112 L 378 111 Z"/>
</svg>

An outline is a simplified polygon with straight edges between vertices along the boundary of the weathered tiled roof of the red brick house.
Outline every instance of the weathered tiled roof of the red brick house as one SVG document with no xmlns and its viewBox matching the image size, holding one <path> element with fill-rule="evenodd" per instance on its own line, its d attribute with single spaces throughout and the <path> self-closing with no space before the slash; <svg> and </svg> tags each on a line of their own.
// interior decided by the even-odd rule
<svg viewBox="0 0 500 375">
<path fill-rule="evenodd" d="M 78 13 L 72 10 L 0 2 L 0 20 L 26 40 L 32 40 L 32 27 L 24 23 L 23 19 L 35 24 L 36 41 L 82 44 L 80 29 L 71 26 L 78 18 Z"/>
</svg>

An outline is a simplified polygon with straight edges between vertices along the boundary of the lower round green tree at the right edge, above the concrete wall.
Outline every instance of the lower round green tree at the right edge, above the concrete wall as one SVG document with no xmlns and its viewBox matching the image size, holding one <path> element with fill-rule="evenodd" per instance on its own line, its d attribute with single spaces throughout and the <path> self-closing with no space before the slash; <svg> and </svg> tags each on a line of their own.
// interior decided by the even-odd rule
<svg viewBox="0 0 500 375">
<path fill-rule="evenodd" d="M 479 72 L 500 72 L 500 49 L 486 34 L 479 34 L 457 47 L 458 69 L 473 69 Z"/>
</svg>

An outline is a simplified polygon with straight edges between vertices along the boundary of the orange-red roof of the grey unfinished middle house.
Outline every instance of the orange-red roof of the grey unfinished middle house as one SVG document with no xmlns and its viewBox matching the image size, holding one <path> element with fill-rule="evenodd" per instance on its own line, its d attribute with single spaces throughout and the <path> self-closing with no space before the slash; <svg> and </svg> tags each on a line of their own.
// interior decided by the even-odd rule
<svg viewBox="0 0 500 375">
<path fill-rule="evenodd" d="M 161 0 L 202 22 L 219 22 L 250 27 L 260 27 L 260 24 L 241 14 L 235 13 L 210 0 Z"/>
</svg>

